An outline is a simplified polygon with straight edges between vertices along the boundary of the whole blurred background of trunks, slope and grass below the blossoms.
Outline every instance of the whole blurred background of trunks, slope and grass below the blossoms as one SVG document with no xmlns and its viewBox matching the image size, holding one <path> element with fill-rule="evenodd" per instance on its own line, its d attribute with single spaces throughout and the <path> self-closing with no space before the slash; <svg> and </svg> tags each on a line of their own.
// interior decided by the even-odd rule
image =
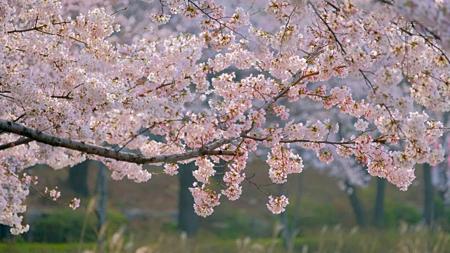
<svg viewBox="0 0 450 253">
<path fill-rule="evenodd" d="M 222 197 L 207 218 L 193 213 L 187 190 L 193 169 L 187 164 L 176 176 L 134 183 L 113 181 L 98 162 L 58 171 L 32 167 L 39 185 L 58 186 L 61 202 L 82 197 L 82 206 L 72 211 L 31 192 L 25 214 L 30 232 L 11 236 L 2 226 L 0 252 L 450 251 L 450 209 L 433 186 L 437 168 L 418 167 L 413 186 L 401 192 L 384 179 L 358 187 L 329 170 L 305 167 L 284 186 L 290 205 L 283 214 L 271 214 L 266 195 L 245 181 L 239 200 Z M 254 159 L 245 172 L 255 175 L 259 188 L 277 193 L 268 169 Z"/>
</svg>

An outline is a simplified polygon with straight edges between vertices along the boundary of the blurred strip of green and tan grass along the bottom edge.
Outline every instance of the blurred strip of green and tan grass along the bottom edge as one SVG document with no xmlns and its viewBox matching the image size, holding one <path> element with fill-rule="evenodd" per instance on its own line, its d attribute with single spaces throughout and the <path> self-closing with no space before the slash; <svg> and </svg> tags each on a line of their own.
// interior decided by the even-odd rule
<svg viewBox="0 0 450 253">
<path fill-rule="evenodd" d="M 276 231 L 275 231 L 276 232 Z M 278 231 L 279 233 L 280 231 Z M 117 235 L 108 238 L 103 252 L 289 252 L 283 241 L 274 233 L 272 238 L 223 239 L 200 232 L 187 239 L 176 233 L 160 233 L 157 237 L 136 242 L 133 238 Z M 359 228 L 350 230 L 340 226 L 323 227 L 316 235 L 296 238 L 290 252 L 450 252 L 450 234 L 430 231 L 421 226 L 406 226 L 399 230 L 378 231 Z M 96 252 L 94 243 L 46 244 L 46 243 L 2 243 L 0 252 L 62 253 Z M 97 251 L 98 252 L 98 251 Z"/>
</svg>

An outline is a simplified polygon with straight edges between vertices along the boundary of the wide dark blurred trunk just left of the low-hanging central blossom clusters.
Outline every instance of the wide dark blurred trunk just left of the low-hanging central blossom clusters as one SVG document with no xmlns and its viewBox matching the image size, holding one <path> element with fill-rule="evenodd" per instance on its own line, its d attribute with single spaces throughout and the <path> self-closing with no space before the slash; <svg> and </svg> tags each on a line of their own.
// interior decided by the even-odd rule
<svg viewBox="0 0 450 253">
<path fill-rule="evenodd" d="M 191 188 L 195 182 L 195 178 L 192 175 L 192 171 L 195 170 L 195 164 L 193 162 L 179 164 L 179 167 L 180 194 L 178 228 L 180 231 L 186 232 L 188 236 L 192 236 L 197 232 L 198 216 L 194 212 L 194 198 L 188 188 Z"/>
</svg>

